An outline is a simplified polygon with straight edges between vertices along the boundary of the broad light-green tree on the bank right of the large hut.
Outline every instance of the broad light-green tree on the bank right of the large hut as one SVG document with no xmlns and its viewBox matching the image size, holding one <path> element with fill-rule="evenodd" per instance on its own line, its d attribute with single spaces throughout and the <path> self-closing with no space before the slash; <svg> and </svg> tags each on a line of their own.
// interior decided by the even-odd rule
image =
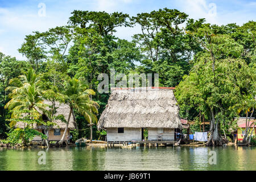
<svg viewBox="0 0 256 182">
<path fill-rule="evenodd" d="M 196 63 L 179 84 L 176 96 L 180 104 L 193 104 L 208 113 L 211 119 L 208 144 L 221 145 L 224 140 L 220 133 L 225 135 L 229 121 L 237 115 L 233 106 L 248 89 L 253 89 L 255 72 L 240 59 L 243 47 L 229 35 L 214 34 L 215 29 L 216 26 L 204 24 L 188 32 L 204 51 L 195 56 Z M 192 101 L 195 96 L 198 98 Z"/>
</svg>

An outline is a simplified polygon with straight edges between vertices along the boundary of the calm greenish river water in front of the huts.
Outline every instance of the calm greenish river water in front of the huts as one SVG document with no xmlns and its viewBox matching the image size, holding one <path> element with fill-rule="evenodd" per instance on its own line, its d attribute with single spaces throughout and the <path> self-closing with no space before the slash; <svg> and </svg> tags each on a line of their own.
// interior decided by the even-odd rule
<svg viewBox="0 0 256 182">
<path fill-rule="evenodd" d="M 100 148 L 88 146 L 50 148 L 49 150 L 14 150 L 0 147 L 0 170 L 255 171 L 256 147 Z"/>
</svg>

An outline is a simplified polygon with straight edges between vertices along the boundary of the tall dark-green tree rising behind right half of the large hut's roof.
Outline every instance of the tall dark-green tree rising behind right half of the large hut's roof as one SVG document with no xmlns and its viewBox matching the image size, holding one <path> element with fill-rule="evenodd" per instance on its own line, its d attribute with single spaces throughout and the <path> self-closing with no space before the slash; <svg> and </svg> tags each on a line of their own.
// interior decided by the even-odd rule
<svg viewBox="0 0 256 182">
<path fill-rule="evenodd" d="M 144 55 L 138 71 L 159 73 L 162 86 L 176 86 L 190 69 L 190 39 L 180 28 L 187 17 L 178 10 L 164 8 L 131 18 L 131 22 L 139 24 L 142 31 L 133 36 Z"/>
</svg>

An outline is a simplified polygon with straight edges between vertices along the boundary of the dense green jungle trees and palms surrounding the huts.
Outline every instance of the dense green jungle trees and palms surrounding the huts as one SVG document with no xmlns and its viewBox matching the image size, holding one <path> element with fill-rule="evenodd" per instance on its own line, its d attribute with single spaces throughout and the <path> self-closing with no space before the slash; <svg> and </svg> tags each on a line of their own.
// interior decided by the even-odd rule
<svg viewBox="0 0 256 182">
<path fill-rule="evenodd" d="M 131 41 L 115 36 L 118 27 L 134 26 L 141 32 Z M 0 138 L 26 143 L 38 135 L 30 125 L 13 126 L 42 122 L 35 106 L 44 109 L 43 99 L 68 104 L 79 129 L 73 139 L 89 138 L 87 125 L 97 122 L 109 98 L 98 93 L 97 76 L 114 68 L 125 75 L 159 73 L 159 86 L 176 88 L 181 118 L 210 121 L 208 144 L 221 145 L 221 136 L 237 127 L 234 117 L 255 116 L 255 35 L 254 21 L 219 26 L 167 8 L 137 16 L 74 10 L 66 26 L 26 35 L 18 49 L 26 59 L 0 53 Z M 54 110 L 46 111 L 47 126 Z M 94 139 L 102 135 L 93 126 Z"/>
</svg>

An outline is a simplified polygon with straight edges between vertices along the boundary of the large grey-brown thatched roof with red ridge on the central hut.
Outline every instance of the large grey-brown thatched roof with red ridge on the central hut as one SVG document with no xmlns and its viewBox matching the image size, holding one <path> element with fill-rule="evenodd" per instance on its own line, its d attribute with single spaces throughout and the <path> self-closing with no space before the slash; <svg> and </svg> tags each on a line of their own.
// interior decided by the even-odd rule
<svg viewBox="0 0 256 182">
<path fill-rule="evenodd" d="M 174 88 L 112 88 L 98 129 L 108 127 L 180 128 Z"/>
</svg>

